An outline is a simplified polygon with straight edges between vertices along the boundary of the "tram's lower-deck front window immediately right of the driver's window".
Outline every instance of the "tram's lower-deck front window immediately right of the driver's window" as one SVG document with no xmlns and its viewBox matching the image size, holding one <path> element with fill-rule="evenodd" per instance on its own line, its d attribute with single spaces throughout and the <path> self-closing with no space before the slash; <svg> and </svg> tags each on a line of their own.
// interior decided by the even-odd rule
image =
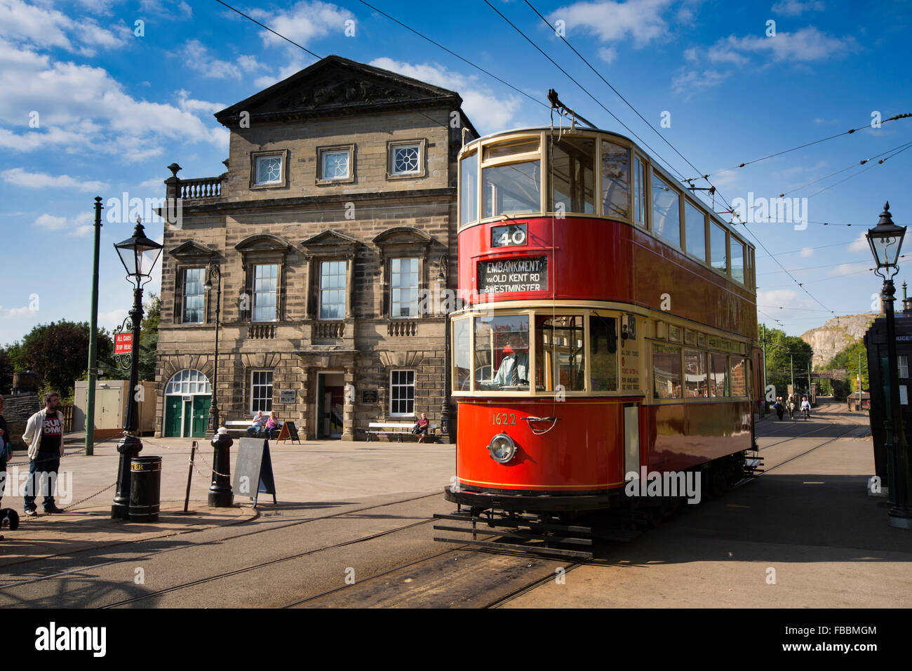
<svg viewBox="0 0 912 671">
<path fill-rule="evenodd" d="M 586 390 L 583 318 L 535 317 L 535 391 L 550 392 L 560 384 L 567 392 Z"/>
</svg>

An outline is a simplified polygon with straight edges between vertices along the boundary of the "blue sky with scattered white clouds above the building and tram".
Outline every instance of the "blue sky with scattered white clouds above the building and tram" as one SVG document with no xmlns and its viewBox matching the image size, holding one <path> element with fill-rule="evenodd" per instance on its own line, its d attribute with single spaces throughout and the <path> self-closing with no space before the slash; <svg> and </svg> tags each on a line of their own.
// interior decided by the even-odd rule
<svg viewBox="0 0 912 671">
<path fill-rule="evenodd" d="M 654 131 L 525 2 L 491 2 L 666 167 L 684 177 L 711 173 L 729 203 L 750 194 L 808 198 L 803 229 L 747 226 L 804 285 L 757 245 L 761 320 L 780 320 L 798 335 L 834 315 L 871 310 L 880 282 L 867 270 L 872 259 L 858 238 L 887 199 L 897 224 L 912 223 L 912 150 L 883 164 L 850 166 L 912 141 L 912 119 L 869 127 L 876 112 L 887 119 L 912 111 L 907 3 L 534 0 L 552 23 L 563 21 L 566 39 Z M 337 54 L 459 91 L 482 133 L 549 122 L 545 107 L 355 0 L 229 4 L 319 56 Z M 630 135 L 482 0 L 425 3 L 420 12 L 399 0 L 370 4 L 533 98 L 544 101 L 557 89 L 596 125 Z M 768 37 L 770 21 L 775 35 Z M 125 192 L 161 197 L 172 162 L 181 164 L 182 177 L 222 173 L 228 133 L 212 113 L 314 61 L 215 0 L 0 0 L 0 344 L 37 323 L 88 320 L 96 195 L 106 202 Z M 661 127 L 663 119 L 669 127 Z M 725 209 L 718 198 L 716 209 Z M 124 221 L 103 228 L 99 323 L 109 329 L 131 302 L 111 244 L 131 231 Z M 161 239 L 161 222 L 147 232 Z"/>
</svg>

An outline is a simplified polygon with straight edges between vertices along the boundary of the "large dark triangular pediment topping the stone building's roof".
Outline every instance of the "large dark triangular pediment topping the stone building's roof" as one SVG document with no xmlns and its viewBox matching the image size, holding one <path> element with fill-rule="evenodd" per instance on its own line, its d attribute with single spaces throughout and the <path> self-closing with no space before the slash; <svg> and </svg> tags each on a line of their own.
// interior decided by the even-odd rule
<svg viewBox="0 0 912 671">
<path fill-rule="evenodd" d="M 231 125 L 242 111 L 249 113 L 251 118 L 281 119 L 418 103 L 446 104 L 451 109 L 459 109 L 461 102 L 455 91 L 347 58 L 328 56 L 217 112 L 215 118 Z"/>
</svg>

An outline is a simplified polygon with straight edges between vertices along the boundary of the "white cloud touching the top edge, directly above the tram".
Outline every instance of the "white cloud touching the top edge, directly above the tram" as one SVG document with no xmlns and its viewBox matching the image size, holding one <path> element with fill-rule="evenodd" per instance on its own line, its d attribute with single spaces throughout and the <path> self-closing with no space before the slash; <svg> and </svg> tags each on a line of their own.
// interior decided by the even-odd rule
<svg viewBox="0 0 912 671">
<path fill-rule="evenodd" d="M 578 2 L 555 9 L 548 19 L 551 23 L 562 19 L 568 34 L 579 29 L 594 33 L 602 42 L 631 37 L 635 46 L 645 47 L 668 33 L 661 14 L 670 4 L 670 0 Z"/>
</svg>

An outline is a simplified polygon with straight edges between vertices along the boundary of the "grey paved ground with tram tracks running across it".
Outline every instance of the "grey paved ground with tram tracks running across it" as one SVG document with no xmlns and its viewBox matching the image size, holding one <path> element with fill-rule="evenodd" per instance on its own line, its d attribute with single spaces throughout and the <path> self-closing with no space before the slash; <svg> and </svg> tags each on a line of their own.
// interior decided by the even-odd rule
<svg viewBox="0 0 912 671">
<path fill-rule="evenodd" d="M 888 527 L 882 501 L 866 496 L 873 458 L 869 432 L 857 425 L 866 418 L 837 413 L 836 406 L 827 410 L 807 424 L 758 425 L 767 475 L 689 507 L 637 540 L 603 543 L 596 561 L 566 572 L 563 584 L 549 580 L 506 605 L 907 606 L 912 532 Z M 121 525 L 117 545 L 98 535 L 86 546 L 92 539 L 77 527 L 79 515 L 86 515 L 80 510 L 88 508 L 78 508 L 72 517 L 29 520 L 17 542 L 44 524 L 46 537 L 57 534 L 58 551 L 6 565 L 0 561 L 0 606 L 304 601 L 305 606 L 472 607 L 566 565 L 431 540 L 430 515 L 451 510 L 440 489 L 450 481 L 453 450 L 398 443 L 277 446 L 278 506 L 261 505 L 255 519 L 241 523 L 201 516 L 195 526 L 188 520 L 175 529 L 180 521 L 169 519 L 170 534 L 131 530 L 137 534 L 132 542 L 122 540 L 124 523 L 109 522 Z M 186 442 L 150 440 L 145 454 L 164 457 L 162 498 L 180 499 Z M 211 462 L 211 448 L 204 455 Z M 111 444 L 98 446 L 96 456 L 68 456 L 64 463 L 74 474 L 78 499 L 113 480 L 116 456 Z M 192 498 L 201 512 L 207 487 L 208 477 L 194 475 Z M 103 510 L 109 497 L 106 492 L 84 506 Z M 67 519 L 73 520 L 72 530 Z M 106 530 L 104 524 L 93 529 Z M 774 583 L 768 582 L 770 569 Z"/>
</svg>

